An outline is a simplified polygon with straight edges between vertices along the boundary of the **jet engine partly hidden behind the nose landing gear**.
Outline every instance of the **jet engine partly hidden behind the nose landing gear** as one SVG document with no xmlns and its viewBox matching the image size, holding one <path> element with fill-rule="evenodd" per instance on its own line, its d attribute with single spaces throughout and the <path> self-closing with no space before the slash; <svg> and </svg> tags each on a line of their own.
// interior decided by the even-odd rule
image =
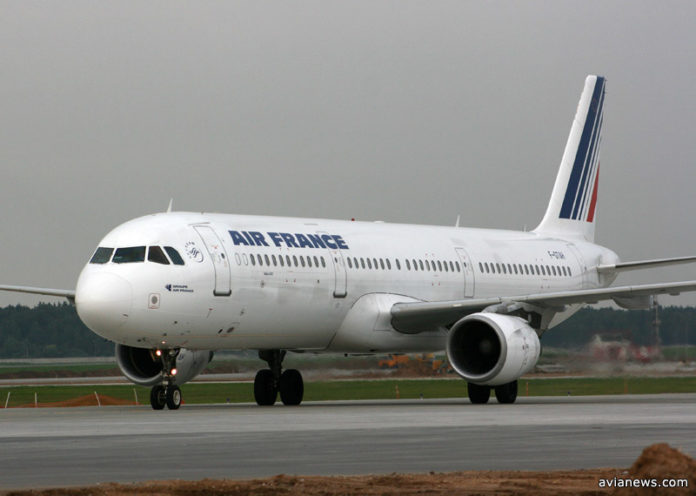
<svg viewBox="0 0 696 496">
<path fill-rule="evenodd" d="M 212 351 L 179 350 L 176 357 L 174 384 L 181 386 L 190 381 L 213 359 Z M 140 386 L 154 386 L 162 382 L 162 361 L 151 349 L 116 345 L 116 363 L 126 378 Z"/>
</svg>

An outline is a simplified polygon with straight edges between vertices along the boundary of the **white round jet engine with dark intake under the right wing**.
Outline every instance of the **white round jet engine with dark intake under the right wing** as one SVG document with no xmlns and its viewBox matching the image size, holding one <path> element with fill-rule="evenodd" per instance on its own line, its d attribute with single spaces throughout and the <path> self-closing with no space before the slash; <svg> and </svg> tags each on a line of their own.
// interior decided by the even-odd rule
<svg viewBox="0 0 696 496">
<path fill-rule="evenodd" d="M 452 368 L 474 384 L 499 386 L 517 380 L 536 365 L 541 343 L 524 319 L 475 313 L 458 321 L 447 336 Z"/>
</svg>

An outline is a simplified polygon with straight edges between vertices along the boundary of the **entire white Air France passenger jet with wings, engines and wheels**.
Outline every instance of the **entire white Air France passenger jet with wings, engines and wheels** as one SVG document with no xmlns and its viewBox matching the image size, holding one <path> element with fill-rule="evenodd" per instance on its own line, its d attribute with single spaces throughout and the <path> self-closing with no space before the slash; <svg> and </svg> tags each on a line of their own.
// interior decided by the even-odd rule
<svg viewBox="0 0 696 496">
<path fill-rule="evenodd" d="M 605 79 L 588 76 L 546 214 L 531 232 L 170 212 L 118 226 L 67 297 L 116 343 L 123 374 L 152 386 L 156 410 L 213 350 L 258 350 L 259 405 L 302 401 L 287 351 L 447 351 L 472 403 L 517 397 L 539 338 L 583 304 L 649 306 L 696 281 L 609 287 L 627 270 L 696 257 L 620 263 L 594 244 Z"/>
</svg>

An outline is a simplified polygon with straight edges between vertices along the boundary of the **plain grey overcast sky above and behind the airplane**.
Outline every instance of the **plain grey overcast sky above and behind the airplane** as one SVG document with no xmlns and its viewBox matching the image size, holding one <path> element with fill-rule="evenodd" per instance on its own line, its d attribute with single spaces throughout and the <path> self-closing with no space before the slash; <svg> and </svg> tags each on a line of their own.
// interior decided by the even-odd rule
<svg viewBox="0 0 696 496">
<path fill-rule="evenodd" d="M 170 197 L 533 228 L 590 73 L 597 241 L 696 254 L 695 61 L 691 1 L 0 0 L 0 283 L 74 288 L 103 235 Z"/>
</svg>

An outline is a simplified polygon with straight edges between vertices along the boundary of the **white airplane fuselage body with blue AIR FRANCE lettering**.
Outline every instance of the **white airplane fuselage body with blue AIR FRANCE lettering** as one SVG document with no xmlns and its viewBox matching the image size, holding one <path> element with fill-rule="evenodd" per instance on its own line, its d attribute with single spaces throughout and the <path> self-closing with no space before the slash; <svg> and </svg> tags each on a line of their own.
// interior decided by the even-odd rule
<svg viewBox="0 0 696 496">
<path fill-rule="evenodd" d="M 363 339 L 344 320 L 374 294 L 445 301 L 604 287 L 612 281 L 594 267 L 618 260 L 595 244 L 533 232 L 196 213 L 135 219 L 99 246 L 170 247 L 184 261 L 146 254 L 88 263 L 80 275 L 82 320 L 141 348 L 441 350 L 441 329 L 404 335 L 368 322 Z"/>
</svg>

